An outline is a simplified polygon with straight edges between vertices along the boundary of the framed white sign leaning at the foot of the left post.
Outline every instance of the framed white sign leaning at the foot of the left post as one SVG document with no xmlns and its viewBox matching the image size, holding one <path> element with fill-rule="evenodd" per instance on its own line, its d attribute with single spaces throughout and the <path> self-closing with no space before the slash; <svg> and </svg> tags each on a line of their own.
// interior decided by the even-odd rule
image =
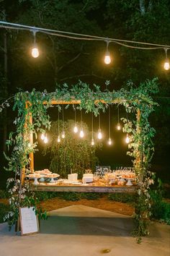
<svg viewBox="0 0 170 256">
<path fill-rule="evenodd" d="M 35 210 L 30 208 L 19 208 L 22 236 L 39 232 L 39 225 Z"/>
</svg>

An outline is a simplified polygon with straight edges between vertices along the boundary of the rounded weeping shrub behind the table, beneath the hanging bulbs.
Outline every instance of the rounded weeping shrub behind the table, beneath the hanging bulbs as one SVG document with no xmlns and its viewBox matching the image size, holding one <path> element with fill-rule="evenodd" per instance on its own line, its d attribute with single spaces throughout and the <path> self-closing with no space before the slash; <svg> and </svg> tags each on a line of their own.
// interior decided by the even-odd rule
<svg viewBox="0 0 170 256">
<path fill-rule="evenodd" d="M 67 178 L 68 174 L 76 172 L 79 178 L 84 174 L 85 169 L 94 170 L 97 165 L 97 157 L 95 151 L 101 146 L 96 142 L 91 147 L 91 134 L 86 124 L 76 123 L 77 127 L 83 128 L 84 138 L 80 139 L 79 134 L 73 133 L 74 121 L 59 121 L 59 130 L 65 132 L 66 137 L 61 138 L 61 142 L 57 142 L 58 138 L 58 121 L 51 123 L 49 132 L 50 142 L 47 145 L 45 153 L 50 153 L 50 170 L 58 173 L 63 178 Z M 61 136 L 61 133 L 59 133 Z"/>
</svg>

